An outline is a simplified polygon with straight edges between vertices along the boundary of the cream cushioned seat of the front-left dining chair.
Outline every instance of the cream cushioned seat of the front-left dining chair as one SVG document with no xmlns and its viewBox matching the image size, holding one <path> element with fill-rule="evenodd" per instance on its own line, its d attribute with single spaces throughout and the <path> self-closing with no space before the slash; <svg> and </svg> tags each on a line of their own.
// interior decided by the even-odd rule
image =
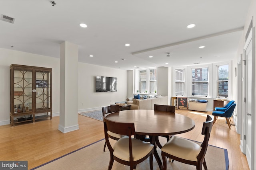
<svg viewBox="0 0 256 170">
<path fill-rule="evenodd" d="M 132 138 L 132 155 L 133 160 L 140 160 L 146 156 L 154 145 Z M 113 146 L 113 155 L 122 160 L 130 161 L 129 153 L 129 137 L 125 136 L 120 138 Z"/>
</svg>

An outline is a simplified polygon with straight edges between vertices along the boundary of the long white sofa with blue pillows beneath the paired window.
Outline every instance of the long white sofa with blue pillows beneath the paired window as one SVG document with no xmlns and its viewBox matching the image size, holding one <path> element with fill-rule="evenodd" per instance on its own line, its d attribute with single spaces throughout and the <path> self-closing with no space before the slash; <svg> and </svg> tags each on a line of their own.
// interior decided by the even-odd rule
<svg viewBox="0 0 256 170">
<path fill-rule="evenodd" d="M 146 109 L 146 110 L 154 110 L 155 104 L 168 105 L 168 97 L 161 96 L 157 98 L 149 98 L 149 99 L 134 99 L 127 98 L 127 104 L 131 104 L 131 109 Z"/>
</svg>

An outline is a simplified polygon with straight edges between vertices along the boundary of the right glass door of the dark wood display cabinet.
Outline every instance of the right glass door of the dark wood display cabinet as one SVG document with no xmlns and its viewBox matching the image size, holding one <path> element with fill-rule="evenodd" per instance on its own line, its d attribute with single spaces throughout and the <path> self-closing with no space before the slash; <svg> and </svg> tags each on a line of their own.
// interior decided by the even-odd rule
<svg viewBox="0 0 256 170">
<path fill-rule="evenodd" d="M 51 72 L 36 70 L 36 112 L 44 113 L 51 108 Z"/>
</svg>

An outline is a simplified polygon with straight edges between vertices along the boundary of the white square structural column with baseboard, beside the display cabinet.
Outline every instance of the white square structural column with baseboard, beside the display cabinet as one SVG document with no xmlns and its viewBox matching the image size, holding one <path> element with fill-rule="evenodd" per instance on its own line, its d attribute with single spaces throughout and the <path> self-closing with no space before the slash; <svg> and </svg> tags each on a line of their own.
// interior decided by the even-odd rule
<svg viewBox="0 0 256 170">
<path fill-rule="evenodd" d="M 78 45 L 64 41 L 60 45 L 60 124 L 67 133 L 78 125 Z"/>
</svg>

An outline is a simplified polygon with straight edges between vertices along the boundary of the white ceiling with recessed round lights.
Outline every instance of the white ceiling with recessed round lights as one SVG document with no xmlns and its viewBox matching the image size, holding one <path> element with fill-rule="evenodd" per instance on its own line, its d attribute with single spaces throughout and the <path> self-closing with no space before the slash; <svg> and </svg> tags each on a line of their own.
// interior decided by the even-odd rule
<svg viewBox="0 0 256 170">
<path fill-rule="evenodd" d="M 79 46 L 80 62 L 124 70 L 229 61 L 251 0 L 55 2 L 0 0 L 0 14 L 15 18 L 0 21 L 0 48 L 59 58 L 60 43 L 69 41 Z M 196 27 L 188 29 L 190 23 Z"/>
</svg>

